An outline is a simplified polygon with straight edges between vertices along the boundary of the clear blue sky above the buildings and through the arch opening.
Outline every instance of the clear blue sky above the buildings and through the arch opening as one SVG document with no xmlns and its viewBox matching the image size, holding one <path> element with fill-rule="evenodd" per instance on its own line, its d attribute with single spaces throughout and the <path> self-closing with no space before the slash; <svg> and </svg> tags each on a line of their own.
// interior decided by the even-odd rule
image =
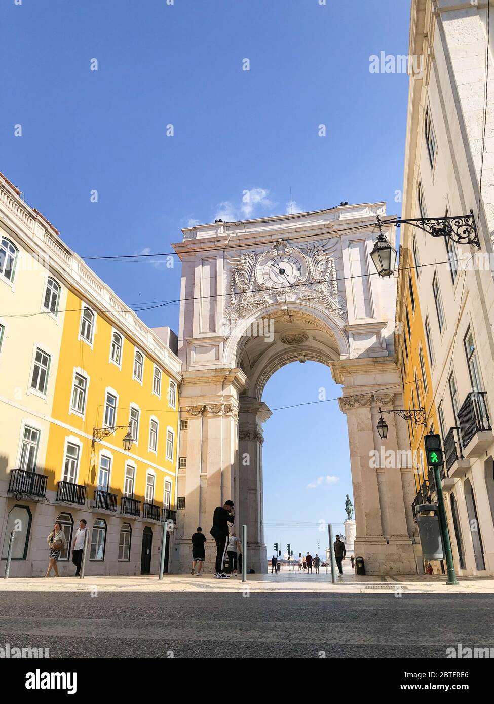
<svg viewBox="0 0 494 704">
<path fill-rule="evenodd" d="M 4 0 L 0 22 L 0 170 L 81 256 L 170 251 L 190 222 L 290 201 L 400 213 L 408 80 L 369 73 L 369 56 L 407 53 L 409 0 Z M 130 306 L 178 297 L 178 261 L 92 265 Z M 142 318 L 177 329 L 178 306 Z M 265 400 L 312 401 L 325 385 L 338 396 L 325 367 L 297 363 Z M 266 522 L 345 517 L 344 421 L 337 403 L 273 414 Z M 307 489 L 326 475 L 340 480 Z M 315 552 L 320 536 L 268 527 L 266 544 Z"/>
</svg>

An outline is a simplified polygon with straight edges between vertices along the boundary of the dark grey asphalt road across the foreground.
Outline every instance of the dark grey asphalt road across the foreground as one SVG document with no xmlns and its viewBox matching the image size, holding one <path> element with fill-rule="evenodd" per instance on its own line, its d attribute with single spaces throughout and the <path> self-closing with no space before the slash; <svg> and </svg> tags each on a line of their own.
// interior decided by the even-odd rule
<svg viewBox="0 0 494 704">
<path fill-rule="evenodd" d="M 492 594 L 0 593 L 0 647 L 50 658 L 445 658 L 494 648 Z"/>
</svg>

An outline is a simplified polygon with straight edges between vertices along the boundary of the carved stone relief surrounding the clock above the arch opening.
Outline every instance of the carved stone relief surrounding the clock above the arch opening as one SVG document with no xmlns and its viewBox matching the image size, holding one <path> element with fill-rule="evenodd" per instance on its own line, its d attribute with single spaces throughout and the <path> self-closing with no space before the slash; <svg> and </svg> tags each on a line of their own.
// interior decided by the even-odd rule
<svg viewBox="0 0 494 704">
<path fill-rule="evenodd" d="M 345 318 L 336 275 L 339 244 L 333 238 L 295 247 L 279 239 L 264 251 L 247 251 L 228 259 L 230 301 L 224 334 L 228 336 L 238 321 L 269 303 L 279 303 L 283 311 L 292 301 L 307 301 Z"/>
</svg>

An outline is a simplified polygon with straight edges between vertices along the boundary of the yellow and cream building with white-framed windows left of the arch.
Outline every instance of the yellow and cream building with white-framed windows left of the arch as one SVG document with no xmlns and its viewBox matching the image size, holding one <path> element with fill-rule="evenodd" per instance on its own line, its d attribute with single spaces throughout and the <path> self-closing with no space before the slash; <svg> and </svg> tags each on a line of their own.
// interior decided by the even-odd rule
<svg viewBox="0 0 494 704">
<path fill-rule="evenodd" d="M 84 519 L 86 574 L 156 574 L 163 527 L 166 570 L 177 508 L 173 333 L 144 325 L 4 178 L 0 227 L 2 559 L 14 530 L 11 574 L 42 576 L 58 520 L 68 541 L 58 569 L 74 574 Z"/>
</svg>

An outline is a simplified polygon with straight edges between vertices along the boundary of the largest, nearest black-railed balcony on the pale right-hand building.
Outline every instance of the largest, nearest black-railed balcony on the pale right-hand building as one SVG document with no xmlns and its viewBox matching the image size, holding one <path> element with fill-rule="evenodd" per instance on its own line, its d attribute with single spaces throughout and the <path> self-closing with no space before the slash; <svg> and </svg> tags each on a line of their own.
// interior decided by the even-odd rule
<svg viewBox="0 0 494 704">
<path fill-rule="evenodd" d="M 462 449 L 467 458 L 480 457 L 494 439 L 486 395 L 486 391 L 470 391 L 458 411 Z"/>
</svg>

